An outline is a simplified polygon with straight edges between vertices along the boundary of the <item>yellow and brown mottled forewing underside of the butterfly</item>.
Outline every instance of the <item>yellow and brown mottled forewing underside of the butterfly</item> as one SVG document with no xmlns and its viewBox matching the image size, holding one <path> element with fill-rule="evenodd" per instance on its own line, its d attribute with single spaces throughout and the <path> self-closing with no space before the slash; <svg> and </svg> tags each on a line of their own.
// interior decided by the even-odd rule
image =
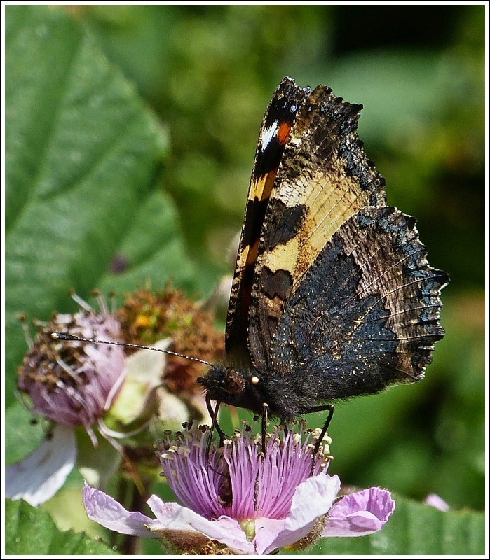
<svg viewBox="0 0 490 560">
<path fill-rule="evenodd" d="M 320 85 L 296 113 L 254 269 L 248 336 L 259 370 L 271 367 L 271 343 L 285 302 L 327 241 L 362 207 L 386 205 L 383 177 L 357 137 L 361 108 Z"/>
</svg>

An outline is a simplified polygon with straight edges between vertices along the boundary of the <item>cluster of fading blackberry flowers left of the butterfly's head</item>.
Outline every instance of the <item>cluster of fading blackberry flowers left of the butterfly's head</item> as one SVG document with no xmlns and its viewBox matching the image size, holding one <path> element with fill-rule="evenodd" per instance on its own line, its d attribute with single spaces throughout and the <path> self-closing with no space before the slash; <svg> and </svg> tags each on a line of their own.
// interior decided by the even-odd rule
<svg viewBox="0 0 490 560">
<path fill-rule="evenodd" d="M 55 314 L 39 324 L 18 371 L 18 393 L 25 407 L 50 421 L 41 445 L 6 469 L 6 496 L 24 498 L 32 505 L 52 497 L 75 462 L 94 486 L 109 482 L 121 467 L 142 491 L 158 476 L 153 442 L 162 426 L 177 428 L 191 415 L 207 417 L 196 381 L 202 372 L 192 360 L 173 357 L 169 363 L 162 352 L 58 340 L 51 333 L 123 339 L 160 350 L 172 344 L 181 352 L 196 346 L 211 359 L 215 347 L 220 348 L 212 314 L 170 288 L 128 296 L 117 313 L 109 313 L 100 296 L 98 312 L 76 295 L 73 298 L 81 311 Z M 100 435 L 111 445 L 99 444 Z"/>
</svg>

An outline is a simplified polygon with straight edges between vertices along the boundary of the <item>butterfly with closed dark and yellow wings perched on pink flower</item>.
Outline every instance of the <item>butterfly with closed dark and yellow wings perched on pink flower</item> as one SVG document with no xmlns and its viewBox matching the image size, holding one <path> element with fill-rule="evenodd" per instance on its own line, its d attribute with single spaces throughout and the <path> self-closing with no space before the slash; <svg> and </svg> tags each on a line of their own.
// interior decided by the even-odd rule
<svg viewBox="0 0 490 560">
<path fill-rule="evenodd" d="M 415 219 L 387 206 L 385 181 L 358 139 L 360 109 L 288 77 L 268 105 L 226 355 L 198 379 L 218 430 L 224 403 L 261 415 L 263 435 L 269 416 L 329 410 L 324 435 L 333 402 L 422 379 L 444 336 L 449 276 L 428 264 Z"/>
</svg>

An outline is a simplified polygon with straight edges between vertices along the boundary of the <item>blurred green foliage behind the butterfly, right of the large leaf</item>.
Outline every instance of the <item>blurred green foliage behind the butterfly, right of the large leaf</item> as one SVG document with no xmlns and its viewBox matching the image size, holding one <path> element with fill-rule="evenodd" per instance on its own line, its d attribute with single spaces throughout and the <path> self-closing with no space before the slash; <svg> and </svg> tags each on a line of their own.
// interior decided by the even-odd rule
<svg viewBox="0 0 490 560">
<path fill-rule="evenodd" d="M 50 9 L 69 10 L 167 130 L 155 182 L 177 206 L 196 295 L 232 270 L 261 118 L 281 78 L 364 104 L 359 134 L 388 202 L 418 218 L 430 264 L 451 275 L 447 335 L 421 384 L 337 407 L 332 472 L 482 510 L 484 6 Z"/>
</svg>

